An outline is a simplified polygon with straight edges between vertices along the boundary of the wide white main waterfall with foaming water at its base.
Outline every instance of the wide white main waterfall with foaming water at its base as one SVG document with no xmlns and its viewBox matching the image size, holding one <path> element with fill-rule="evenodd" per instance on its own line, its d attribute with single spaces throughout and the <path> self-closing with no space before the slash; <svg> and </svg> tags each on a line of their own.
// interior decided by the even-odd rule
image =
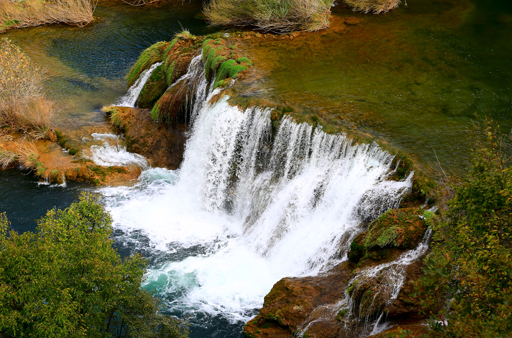
<svg viewBox="0 0 512 338">
<path fill-rule="evenodd" d="M 100 192 L 117 242 L 150 257 L 145 287 L 191 315 L 195 330 L 235 337 L 279 279 L 342 261 L 362 220 L 398 206 L 411 177 L 388 181 L 393 156 L 376 143 L 290 117 L 271 142 L 269 109 L 209 103 L 219 91 L 207 92 L 203 73 L 195 79 L 180 169 L 150 168 L 132 187 Z"/>
</svg>

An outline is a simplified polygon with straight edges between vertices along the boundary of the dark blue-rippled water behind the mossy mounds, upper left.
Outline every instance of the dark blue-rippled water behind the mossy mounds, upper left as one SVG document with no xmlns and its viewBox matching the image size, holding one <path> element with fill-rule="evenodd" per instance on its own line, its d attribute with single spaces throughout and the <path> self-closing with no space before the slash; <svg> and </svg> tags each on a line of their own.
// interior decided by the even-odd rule
<svg viewBox="0 0 512 338">
<path fill-rule="evenodd" d="M 4 36 L 47 70 L 49 95 L 73 124 L 103 120 L 97 111 L 126 92 L 124 76 L 140 52 L 157 41 L 170 40 L 187 28 L 193 34 L 217 31 L 194 18 L 201 2 L 172 2 L 141 8 L 121 2 L 100 2 L 94 16 L 101 22 L 79 27 L 34 27 Z M 57 121 L 59 122 L 59 121 Z"/>
</svg>

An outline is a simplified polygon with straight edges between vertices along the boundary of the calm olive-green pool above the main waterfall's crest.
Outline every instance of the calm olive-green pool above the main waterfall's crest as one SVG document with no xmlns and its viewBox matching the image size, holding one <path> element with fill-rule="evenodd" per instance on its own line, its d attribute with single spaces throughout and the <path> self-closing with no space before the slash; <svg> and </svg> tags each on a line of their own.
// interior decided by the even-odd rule
<svg viewBox="0 0 512 338">
<path fill-rule="evenodd" d="M 346 34 L 266 41 L 271 98 L 353 122 L 435 167 L 457 170 L 474 113 L 512 127 L 512 2 L 410 0 L 386 15 L 334 7 L 364 19 Z M 340 119 L 339 116 L 343 118 Z"/>
</svg>

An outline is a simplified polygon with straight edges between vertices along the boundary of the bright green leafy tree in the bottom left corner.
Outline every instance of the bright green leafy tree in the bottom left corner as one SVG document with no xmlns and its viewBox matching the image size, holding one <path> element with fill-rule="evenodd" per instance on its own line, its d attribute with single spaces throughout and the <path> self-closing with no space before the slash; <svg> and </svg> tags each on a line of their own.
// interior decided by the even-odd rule
<svg viewBox="0 0 512 338">
<path fill-rule="evenodd" d="M 163 315 L 140 288 L 146 261 L 121 260 L 112 218 L 82 194 L 19 235 L 0 214 L 0 337 L 175 337 L 188 326 Z"/>
</svg>

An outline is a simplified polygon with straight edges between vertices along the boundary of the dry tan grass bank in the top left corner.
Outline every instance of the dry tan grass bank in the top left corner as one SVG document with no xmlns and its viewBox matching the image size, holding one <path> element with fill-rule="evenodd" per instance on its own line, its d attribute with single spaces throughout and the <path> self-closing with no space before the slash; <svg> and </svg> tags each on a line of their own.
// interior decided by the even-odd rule
<svg viewBox="0 0 512 338">
<path fill-rule="evenodd" d="M 93 0 L 0 0 L 0 31 L 39 25 L 91 23 Z"/>
</svg>

